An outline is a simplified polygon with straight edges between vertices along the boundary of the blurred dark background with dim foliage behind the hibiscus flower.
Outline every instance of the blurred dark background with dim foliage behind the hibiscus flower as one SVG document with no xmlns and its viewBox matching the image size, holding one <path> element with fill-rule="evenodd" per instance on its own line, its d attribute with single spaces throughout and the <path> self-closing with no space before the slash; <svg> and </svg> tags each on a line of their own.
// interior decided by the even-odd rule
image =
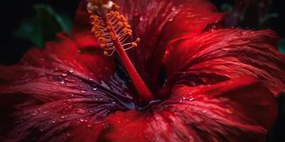
<svg viewBox="0 0 285 142">
<path fill-rule="evenodd" d="M 279 48 L 285 53 L 285 8 L 281 0 L 211 0 L 219 11 L 229 15 L 225 25 L 254 30 L 271 28 L 279 33 Z M 80 0 L 1 1 L 0 65 L 13 65 L 28 48 L 43 47 L 58 31 L 70 31 Z M 269 133 L 269 141 L 285 141 L 285 99 L 279 97 L 279 118 Z M 283 111 L 282 111 L 283 110 Z M 275 138 L 275 139 L 274 139 Z"/>
</svg>

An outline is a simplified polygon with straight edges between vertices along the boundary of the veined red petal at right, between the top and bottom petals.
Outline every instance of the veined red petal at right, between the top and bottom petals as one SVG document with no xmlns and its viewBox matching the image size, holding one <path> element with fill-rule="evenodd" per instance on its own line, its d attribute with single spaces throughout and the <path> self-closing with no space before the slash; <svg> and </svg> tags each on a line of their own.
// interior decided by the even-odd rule
<svg viewBox="0 0 285 142">
<path fill-rule="evenodd" d="M 177 40 L 167 48 L 167 79 L 197 86 L 252 75 L 277 95 L 285 90 L 285 56 L 277 44 L 269 30 L 224 29 Z"/>
</svg>

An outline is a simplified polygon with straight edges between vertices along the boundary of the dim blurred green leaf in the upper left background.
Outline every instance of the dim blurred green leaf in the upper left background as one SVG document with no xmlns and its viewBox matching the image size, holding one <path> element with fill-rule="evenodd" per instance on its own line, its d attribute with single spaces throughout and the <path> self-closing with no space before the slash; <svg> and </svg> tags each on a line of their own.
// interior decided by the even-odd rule
<svg viewBox="0 0 285 142">
<path fill-rule="evenodd" d="M 71 18 L 60 16 L 51 6 L 36 4 L 36 16 L 23 21 L 14 35 L 27 38 L 38 48 L 43 48 L 44 43 L 53 40 L 56 33 L 71 31 Z"/>
</svg>

